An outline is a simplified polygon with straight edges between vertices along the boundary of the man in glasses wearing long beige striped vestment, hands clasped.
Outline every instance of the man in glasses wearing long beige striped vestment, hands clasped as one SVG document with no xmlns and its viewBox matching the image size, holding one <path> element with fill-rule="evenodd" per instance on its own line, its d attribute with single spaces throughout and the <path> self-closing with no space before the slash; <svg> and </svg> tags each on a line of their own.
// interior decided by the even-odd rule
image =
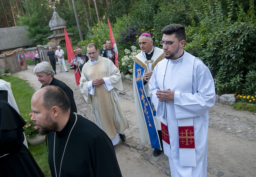
<svg viewBox="0 0 256 177">
<path fill-rule="evenodd" d="M 85 101 L 91 104 L 94 123 L 109 136 L 113 145 L 116 145 L 119 136 L 125 141 L 124 131 L 129 128 L 118 103 L 117 91 L 123 91 L 121 74 L 111 60 L 98 55 L 99 50 L 94 43 L 86 47 L 89 61 L 82 69 L 80 90 Z"/>
</svg>

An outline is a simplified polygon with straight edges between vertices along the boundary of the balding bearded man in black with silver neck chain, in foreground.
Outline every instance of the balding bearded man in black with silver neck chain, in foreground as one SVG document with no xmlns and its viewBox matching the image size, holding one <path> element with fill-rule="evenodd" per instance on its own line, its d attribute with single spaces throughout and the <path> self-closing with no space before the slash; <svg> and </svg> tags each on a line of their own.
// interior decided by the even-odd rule
<svg viewBox="0 0 256 177">
<path fill-rule="evenodd" d="M 70 112 L 69 99 L 59 87 L 46 86 L 35 92 L 31 109 L 31 120 L 40 133 L 48 133 L 52 176 L 122 176 L 108 135 L 95 123 Z"/>
</svg>

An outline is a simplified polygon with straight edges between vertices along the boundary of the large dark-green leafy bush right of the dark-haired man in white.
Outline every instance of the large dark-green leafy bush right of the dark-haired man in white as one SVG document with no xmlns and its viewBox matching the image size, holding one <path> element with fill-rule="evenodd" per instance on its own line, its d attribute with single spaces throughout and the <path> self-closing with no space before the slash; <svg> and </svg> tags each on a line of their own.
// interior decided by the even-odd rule
<svg viewBox="0 0 256 177">
<path fill-rule="evenodd" d="M 185 50 L 198 56 L 210 68 L 217 93 L 253 93 L 256 81 L 256 32 L 253 1 L 244 12 L 229 5 L 228 17 L 220 3 L 211 3 L 198 13 L 200 24 L 187 30 Z M 233 15 L 237 21 L 232 21 Z"/>
</svg>

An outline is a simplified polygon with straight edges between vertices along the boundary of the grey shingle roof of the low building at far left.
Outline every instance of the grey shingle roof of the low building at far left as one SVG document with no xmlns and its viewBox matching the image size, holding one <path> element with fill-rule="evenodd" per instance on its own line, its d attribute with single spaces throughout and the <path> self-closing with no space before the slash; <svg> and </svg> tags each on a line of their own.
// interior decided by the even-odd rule
<svg viewBox="0 0 256 177">
<path fill-rule="evenodd" d="M 0 28 L 0 50 L 24 47 L 31 44 L 27 26 Z"/>
</svg>

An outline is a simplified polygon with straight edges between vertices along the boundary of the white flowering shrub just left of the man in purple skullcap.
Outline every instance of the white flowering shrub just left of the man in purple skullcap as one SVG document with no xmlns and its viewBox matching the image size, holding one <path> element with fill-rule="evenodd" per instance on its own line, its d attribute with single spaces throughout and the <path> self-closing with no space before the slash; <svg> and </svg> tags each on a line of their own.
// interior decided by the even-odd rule
<svg viewBox="0 0 256 177">
<path fill-rule="evenodd" d="M 124 74 L 132 74 L 134 57 L 139 54 L 141 50 L 137 49 L 136 46 L 131 46 L 131 50 L 125 49 L 125 56 L 122 60 L 122 68 Z"/>
</svg>

